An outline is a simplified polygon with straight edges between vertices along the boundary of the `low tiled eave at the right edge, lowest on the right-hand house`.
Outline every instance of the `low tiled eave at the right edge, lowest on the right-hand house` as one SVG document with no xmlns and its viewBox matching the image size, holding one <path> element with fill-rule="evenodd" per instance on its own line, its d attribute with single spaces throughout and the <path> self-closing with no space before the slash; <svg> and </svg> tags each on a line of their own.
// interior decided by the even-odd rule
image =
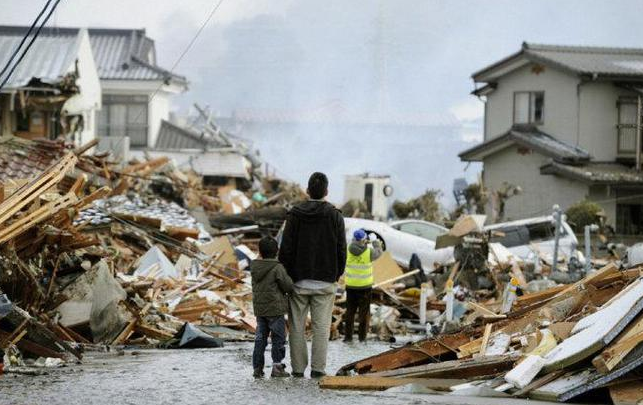
<svg viewBox="0 0 643 405">
<path fill-rule="evenodd" d="M 591 184 L 643 184 L 643 173 L 619 163 L 601 162 L 573 166 L 552 161 L 542 166 L 540 173 L 555 174 Z"/>
</svg>

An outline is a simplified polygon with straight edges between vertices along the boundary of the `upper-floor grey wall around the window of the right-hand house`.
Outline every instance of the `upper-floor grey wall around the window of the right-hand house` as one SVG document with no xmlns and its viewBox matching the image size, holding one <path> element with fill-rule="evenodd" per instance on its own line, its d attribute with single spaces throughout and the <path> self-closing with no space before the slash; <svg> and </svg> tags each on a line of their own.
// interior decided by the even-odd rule
<svg viewBox="0 0 643 405">
<path fill-rule="evenodd" d="M 544 91 L 544 123 L 539 128 L 559 139 L 576 144 L 579 79 L 550 67 L 536 74 L 533 64 L 507 74 L 487 96 L 485 140 L 502 135 L 513 125 L 514 92 Z"/>
</svg>

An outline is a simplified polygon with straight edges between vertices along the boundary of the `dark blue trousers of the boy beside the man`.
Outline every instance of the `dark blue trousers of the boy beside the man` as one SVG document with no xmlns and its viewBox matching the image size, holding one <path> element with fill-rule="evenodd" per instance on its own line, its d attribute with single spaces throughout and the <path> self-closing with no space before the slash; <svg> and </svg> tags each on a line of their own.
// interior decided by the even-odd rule
<svg viewBox="0 0 643 405">
<path fill-rule="evenodd" d="M 255 332 L 255 349 L 252 353 L 252 367 L 264 367 L 264 352 L 268 345 L 268 335 L 272 338 L 272 362 L 281 363 L 286 357 L 286 319 L 280 316 L 258 316 Z"/>
</svg>

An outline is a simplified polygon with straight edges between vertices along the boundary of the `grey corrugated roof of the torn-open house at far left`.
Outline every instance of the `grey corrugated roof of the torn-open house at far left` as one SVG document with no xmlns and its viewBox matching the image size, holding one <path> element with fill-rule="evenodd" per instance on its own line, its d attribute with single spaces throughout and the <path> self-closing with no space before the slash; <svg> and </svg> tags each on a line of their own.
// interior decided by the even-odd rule
<svg viewBox="0 0 643 405">
<path fill-rule="evenodd" d="M 0 66 L 7 63 L 22 37 L 23 34 L 20 33 L 3 34 L 0 30 Z M 9 78 L 5 88 L 26 86 L 34 78 L 45 83 L 60 81 L 73 68 L 78 56 L 78 45 L 78 31 L 61 35 L 41 33 Z"/>
</svg>

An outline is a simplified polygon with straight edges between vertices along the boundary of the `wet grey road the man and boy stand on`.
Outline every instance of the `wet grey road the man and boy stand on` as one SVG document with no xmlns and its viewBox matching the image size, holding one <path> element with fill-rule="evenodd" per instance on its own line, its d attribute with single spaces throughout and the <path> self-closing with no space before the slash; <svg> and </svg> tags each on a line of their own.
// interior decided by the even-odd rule
<svg viewBox="0 0 643 405">
<path fill-rule="evenodd" d="M 328 372 L 380 353 L 382 343 L 350 346 L 331 342 Z M 81 365 L 50 371 L 45 376 L 0 376 L 2 405 L 160 405 L 160 404 L 490 404 L 498 398 L 321 390 L 311 379 L 252 378 L 251 343 L 223 349 L 142 350 L 89 353 Z M 266 362 L 269 363 L 269 352 Z M 269 369 L 266 369 L 269 372 Z M 537 401 L 505 401 L 536 405 Z"/>
</svg>

